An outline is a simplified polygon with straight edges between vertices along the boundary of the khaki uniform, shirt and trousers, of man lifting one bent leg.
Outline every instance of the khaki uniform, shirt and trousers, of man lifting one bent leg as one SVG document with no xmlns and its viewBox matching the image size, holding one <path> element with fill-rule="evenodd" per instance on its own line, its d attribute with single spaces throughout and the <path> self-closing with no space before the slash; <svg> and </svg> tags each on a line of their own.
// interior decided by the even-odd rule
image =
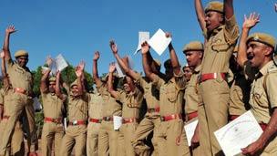
<svg viewBox="0 0 277 156">
<path fill-rule="evenodd" d="M 148 111 L 145 114 L 145 118 L 139 122 L 139 126 L 135 132 L 135 139 L 132 142 L 133 147 L 139 155 L 149 155 L 150 148 L 144 143 L 144 140 L 149 136 L 149 133 L 153 131 L 152 144 L 154 146 L 153 155 L 159 155 L 160 151 L 165 147 L 161 144 L 157 137 L 160 116 L 159 116 L 159 90 L 153 87 L 152 82 L 147 81 L 138 75 L 136 78 L 137 83 L 144 91 L 144 99 L 146 99 Z"/>
</svg>

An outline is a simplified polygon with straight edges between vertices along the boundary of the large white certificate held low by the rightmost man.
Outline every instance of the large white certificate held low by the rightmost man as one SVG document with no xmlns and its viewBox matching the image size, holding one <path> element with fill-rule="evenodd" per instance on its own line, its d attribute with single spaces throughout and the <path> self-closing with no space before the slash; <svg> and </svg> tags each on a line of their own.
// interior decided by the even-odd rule
<svg viewBox="0 0 277 156">
<path fill-rule="evenodd" d="M 250 110 L 214 132 L 221 149 L 227 156 L 241 153 L 241 148 L 258 140 L 261 134 L 262 128 Z"/>
</svg>

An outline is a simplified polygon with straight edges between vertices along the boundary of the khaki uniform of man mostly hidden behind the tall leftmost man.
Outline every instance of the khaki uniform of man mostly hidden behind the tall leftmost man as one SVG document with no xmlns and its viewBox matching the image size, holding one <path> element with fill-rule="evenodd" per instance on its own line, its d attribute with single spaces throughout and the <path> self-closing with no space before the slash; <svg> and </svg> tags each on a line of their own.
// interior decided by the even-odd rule
<svg viewBox="0 0 277 156">
<path fill-rule="evenodd" d="M 1 96 L 0 96 L 0 103 L 4 104 L 4 119 L 0 121 L 0 134 L 3 134 L 5 131 L 5 125 L 7 124 L 7 118 L 11 114 L 11 105 L 7 104 L 8 99 L 10 99 L 10 93 L 11 90 L 4 90 L 3 88 L 0 90 Z M 1 138 L 2 139 L 2 138 Z M 2 140 L 0 140 L 2 142 Z M 15 131 L 12 134 L 12 140 L 8 143 L 8 148 L 5 153 L 5 155 L 17 155 L 21 156 L 24 155 L 25 149 L 24 149 L 24 133 L 22 130 L 22 123 L 17 120 L 15 124 Z"/>
</svg>

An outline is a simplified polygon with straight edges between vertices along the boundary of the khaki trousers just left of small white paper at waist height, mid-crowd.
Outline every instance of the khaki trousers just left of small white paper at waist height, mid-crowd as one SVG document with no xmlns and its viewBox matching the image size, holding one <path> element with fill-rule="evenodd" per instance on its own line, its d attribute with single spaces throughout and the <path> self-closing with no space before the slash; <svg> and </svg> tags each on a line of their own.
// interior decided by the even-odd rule
<svg viewBox="0 0 277 156">
<path fill-rule="evenodd" d="M 98 155 L 118 155 L 118 130 L 114 130 L 112 121 L 102 120 L 98 134 Z"/>
</svg>

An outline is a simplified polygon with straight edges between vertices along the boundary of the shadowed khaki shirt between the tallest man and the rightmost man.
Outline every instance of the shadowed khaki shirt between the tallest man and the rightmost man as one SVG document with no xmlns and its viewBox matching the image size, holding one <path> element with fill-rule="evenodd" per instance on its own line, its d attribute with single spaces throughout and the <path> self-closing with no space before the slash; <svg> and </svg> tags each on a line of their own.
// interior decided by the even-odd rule
<svg viewBox="0 0 277 156">
<path fill-rule="evenodd" d="M 234 77 L 230 90 L 229 112 L 231 115 L 241 115 L 250 109 L 251 81 L 247 80 L 241 72 L 236 73 Z"/>
</svg>

